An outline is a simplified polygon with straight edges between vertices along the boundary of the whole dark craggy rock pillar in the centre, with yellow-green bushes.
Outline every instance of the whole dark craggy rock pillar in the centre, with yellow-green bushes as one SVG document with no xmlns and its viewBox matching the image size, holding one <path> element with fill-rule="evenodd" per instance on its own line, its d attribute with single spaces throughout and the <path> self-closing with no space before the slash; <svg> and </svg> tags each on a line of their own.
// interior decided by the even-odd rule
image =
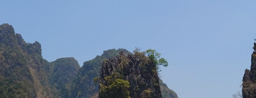
<svg viewBox="0 0 256 98">
<path fill-rule="evenodd" d="M 156 65 L 144 54 L 121 52 L 102 64 L 99 98 L 119 97 L 162 98 Z"/>
</svg>

